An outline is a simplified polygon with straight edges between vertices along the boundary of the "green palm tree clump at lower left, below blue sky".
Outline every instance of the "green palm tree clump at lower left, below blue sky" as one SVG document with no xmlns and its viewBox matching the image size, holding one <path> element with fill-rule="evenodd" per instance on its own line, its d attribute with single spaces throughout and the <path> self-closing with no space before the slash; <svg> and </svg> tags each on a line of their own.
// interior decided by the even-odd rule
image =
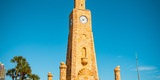
<svg viewBox="0 0 160 80">
<path fill-rule="evenodd" d="M 11 59 L 11 63 L 16 63 L 15 68 L 8 69 L 6 75 L 10 76 L 12 80 L 39 80 L 39 76 L 32 74 L 31 67 L 27 60 L 22 56 L 15 56 Z"/>
</svg>

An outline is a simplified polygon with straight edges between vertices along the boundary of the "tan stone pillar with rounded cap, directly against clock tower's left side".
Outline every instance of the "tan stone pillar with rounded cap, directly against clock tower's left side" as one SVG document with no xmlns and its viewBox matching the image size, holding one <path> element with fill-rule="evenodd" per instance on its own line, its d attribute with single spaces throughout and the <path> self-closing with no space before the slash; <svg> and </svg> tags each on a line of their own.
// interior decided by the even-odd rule
<svg viewBox="0 0 160 80">
<path fill-rule="evenodd" d="M 66 80 L 66 64 L 64 62 L 60 63 L 60 80 Z"/>
</svg>

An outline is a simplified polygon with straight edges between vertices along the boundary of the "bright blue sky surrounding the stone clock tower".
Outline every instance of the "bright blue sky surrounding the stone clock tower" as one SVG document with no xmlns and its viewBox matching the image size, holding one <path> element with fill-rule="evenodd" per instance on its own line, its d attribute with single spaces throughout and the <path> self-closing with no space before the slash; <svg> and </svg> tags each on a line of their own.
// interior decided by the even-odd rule
<svg viewBox="0 0 160 80">
<path fill-rule="evenodd" d="M 59 80 L 59 63 L 66 60 L 68 16 L 74 0 L 0 0 L 0 62 L 13 68 L 14 56 L 27 59 L 41 80 L 52 72 Z M 160 80 L 160 0 L 86 0 L 101 80 Z M 7 77 L 6 80 L 11 80 Z"/>
</svg>

